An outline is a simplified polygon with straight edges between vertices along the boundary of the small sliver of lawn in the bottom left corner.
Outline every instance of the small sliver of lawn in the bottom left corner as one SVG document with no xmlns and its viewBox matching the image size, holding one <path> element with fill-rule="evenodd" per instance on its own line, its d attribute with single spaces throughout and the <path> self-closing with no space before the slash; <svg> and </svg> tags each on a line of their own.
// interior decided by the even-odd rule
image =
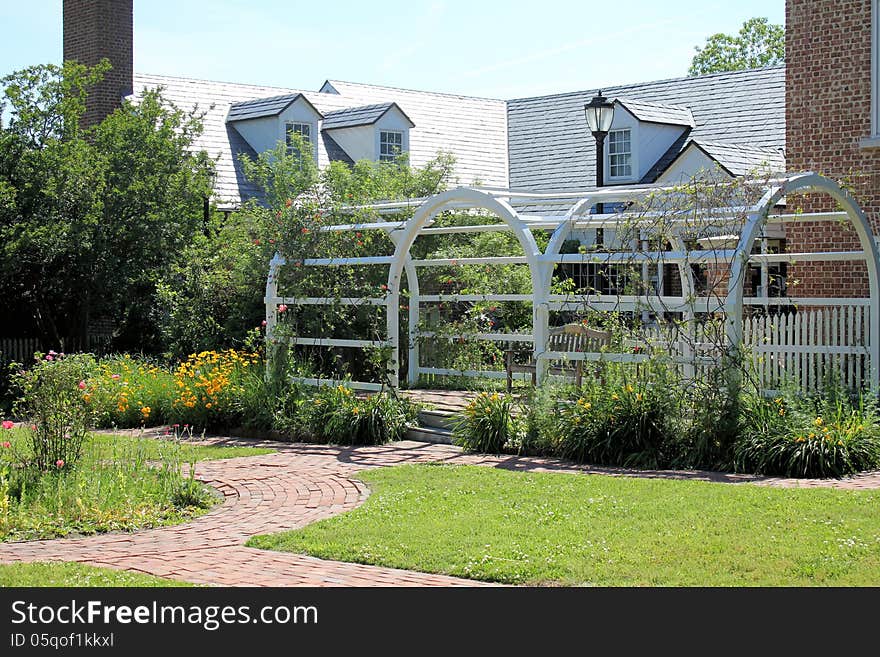
<svg viewBox="0 0 880 657">
<path fill-rule="evenodd" d="M 163 579 L 112 568 L 96 568 L 81 563 L 0 564 L 0 587 L 10 586 L 193 586 L 187 582 Z"/>
</svg>

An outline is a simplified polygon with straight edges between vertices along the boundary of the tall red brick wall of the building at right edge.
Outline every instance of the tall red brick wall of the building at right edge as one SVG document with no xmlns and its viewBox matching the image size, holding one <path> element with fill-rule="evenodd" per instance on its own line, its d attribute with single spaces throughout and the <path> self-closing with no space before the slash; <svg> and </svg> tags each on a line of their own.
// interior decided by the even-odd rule
<svg viewBox="0 0 880 657">
<path fill-rule="evenodd" d="M 880 227 L 880 148 L 871 134 L 871 0 L 787 0 L 785 7 L 786 161 L 842 181 Z M 827 198 L 790 198 L 806 211 L 834 210 Z M 787 251 L 858 249 L 855 232 L 830 223 L 787 226 Z M 790 268 L 792 296 L 861 296 L 859 263 Z"/>
</svg>

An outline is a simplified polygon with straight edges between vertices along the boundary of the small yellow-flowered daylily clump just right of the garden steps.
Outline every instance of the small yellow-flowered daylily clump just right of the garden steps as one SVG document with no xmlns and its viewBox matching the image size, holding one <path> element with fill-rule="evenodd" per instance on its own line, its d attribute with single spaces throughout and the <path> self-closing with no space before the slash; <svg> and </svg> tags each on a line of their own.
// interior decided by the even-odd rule
<svg viewBox="0 0 880 657">
<path fill-rule="evenodd" d="M 489 454 L 519 446 L 525 427 L 514 416 L 513 408 L 510 395 L 481 392 L 465 407 L 453 427 L 453 442 L 468 451 Z"/>
</svg>

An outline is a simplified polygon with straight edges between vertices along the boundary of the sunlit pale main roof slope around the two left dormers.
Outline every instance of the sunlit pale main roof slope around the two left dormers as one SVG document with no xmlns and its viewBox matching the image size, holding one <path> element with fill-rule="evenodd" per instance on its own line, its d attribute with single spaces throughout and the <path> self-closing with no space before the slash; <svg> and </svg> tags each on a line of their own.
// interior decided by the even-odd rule
<svg viewBox="0 0 880 657">
<path fill-rule="evenodd" d="M 338 85 L 338 89 L 328 88 L 322 93 L 165 75 L 134 76 L 135 95 L 161 86 L 164 97 L 177 107 L 184 110 L 197 107 L 205 112 L 203 134 L 194 148 L 204 149 L 217 158 L 215 200 L 221 208 L 235 208 L 243 200 L 258 197 L 258 191 L 244 179 L 238 161 L 240 153 L 253 155 L 253 149 L 235 130 L 234 122 L 226 123 L 232 106 L 254 107 L 266 99 L 298 95 L 324 116 L 352 107 L 397 103 L 417 126 L 410 131 L 413 165 L 421 166 L 438 151 L 448 151 L 456 156 L 454 175 L 460 184 L 473 184 L 478 180 L 486 185 L 507 186 L 505 101 L 348 82 L 334 82 L 334 85 Z M 318 165 L 325 166 L 333 160 L 351 162 L 339 144 L 322 133 L 318 139 Z"/>
</svg>

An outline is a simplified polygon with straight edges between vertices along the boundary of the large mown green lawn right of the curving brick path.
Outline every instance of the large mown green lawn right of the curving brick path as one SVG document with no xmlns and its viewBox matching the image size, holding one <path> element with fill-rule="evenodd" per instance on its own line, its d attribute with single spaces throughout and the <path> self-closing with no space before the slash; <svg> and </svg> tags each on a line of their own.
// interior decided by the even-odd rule
<svg viewBox="0 0 880 657">
<path fill-rule="evenodd" d="M 877 586 L 880 491 L 410 465 L 252 547 L 512 584 Z"/>
</svg>

